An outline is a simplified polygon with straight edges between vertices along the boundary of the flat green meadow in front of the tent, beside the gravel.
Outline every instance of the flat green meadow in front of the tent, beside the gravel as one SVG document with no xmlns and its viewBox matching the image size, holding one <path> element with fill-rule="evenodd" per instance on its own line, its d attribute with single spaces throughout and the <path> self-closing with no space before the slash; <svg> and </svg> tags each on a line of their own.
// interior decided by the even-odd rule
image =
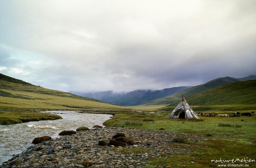
<svg viewBox="0 0 256 168">
<path fill-rule="evenodd" d="M 219 112 L 222 113 L 222 112 Z M 231 113 L 231 112 L 230 112 Z M 247 164 L 256 167 L 256 162 L 215 163 L 213 160 L 255 159 L 256 160 L 256 116 L 251 117 L 203 117 L 200 122 L 185 119 L 168 119 L 170 113 L 116 114 L 104 125 L 159 130 L 165 128 L 176 133 L 189 133 L 203 136 L 198 142 L 171 143 L 173 148 L 189 148 L 189 154 L 163 154 L 158 158 L 149 158 L 148 168 L 162 167 L 218 167 L 224 164 Z M 154 122 L 143 122 L 154 119 Z M 244 120 L 244 121 L 241 121 Z M 127 125 L 125 123 L 133 123 Z M 137 123 L 137 124 L 136 124 Z M 239 125 L 239 127 L 219 127 Z"/>
</svg>

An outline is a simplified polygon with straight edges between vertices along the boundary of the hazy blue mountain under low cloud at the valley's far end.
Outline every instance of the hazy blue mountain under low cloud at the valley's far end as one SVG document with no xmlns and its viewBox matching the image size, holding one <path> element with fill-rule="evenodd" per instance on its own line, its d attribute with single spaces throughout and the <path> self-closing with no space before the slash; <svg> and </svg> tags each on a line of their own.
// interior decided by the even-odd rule
<svg viewBox="0 0 256 168">
<path fill-rule="evenodd" d="M 106 92 L 92 92 L 92 93 L 79 93 L 72 92 L 80 96 L 86 96 L 91 98 L 96 98 L 100 101 L 105 101 L 111 104 L 116 104 L 120 106 L 135 106 L 142 104 L 146 101 L 154 100 L 157 98 L 162 98 L 173 93 L 185 90 L 189 87 L 172 87 L 162 90 L 134 90 L 128 93 L 114 93 L 113 91 Z"/>
</svg>

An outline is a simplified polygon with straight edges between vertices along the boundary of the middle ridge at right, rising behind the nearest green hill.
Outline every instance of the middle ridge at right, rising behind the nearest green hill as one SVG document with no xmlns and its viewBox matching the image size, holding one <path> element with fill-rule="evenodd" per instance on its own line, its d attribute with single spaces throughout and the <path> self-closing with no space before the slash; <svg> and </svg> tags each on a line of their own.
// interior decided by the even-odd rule
<svg viewBox="0 0 256 168">
<path fill-rule="evenodd" d="M 145 102 L 145 103 L 143 103 L 143 105 L 172 104 L 174 102 L 179 101 L 182 95 L 189 97 L 191 95 L 201 93 L 205 90 L 209 90 L 209 89 L 212 89 L 215 87 L 223 86 L 225 84 L 230 84 L 230 83 L 239 82 L 239 81 L 254 80 L 254 79 L 256 79 L 256 75 L 250 75 L 250 76 L 247 76 L 244 78 L 232 78 L 229 76 L 223 77 L 223 78 L 216 78 L 216 79 L 213 79 L 212 81 L 209 81 L 205 84 L 201 84 L 201 85 L 198 85 L 195 87 L 190 87 L 189 89 L 174 93 L 170 96 L 166 96 L 163 98 Z"/>
</svg>

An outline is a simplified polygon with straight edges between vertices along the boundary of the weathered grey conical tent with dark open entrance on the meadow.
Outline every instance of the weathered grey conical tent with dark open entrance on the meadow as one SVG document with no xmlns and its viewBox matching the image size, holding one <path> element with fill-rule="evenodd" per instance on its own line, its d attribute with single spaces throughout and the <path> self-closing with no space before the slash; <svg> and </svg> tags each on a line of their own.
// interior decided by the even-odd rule
<svg viewBox="0 0 256 168">
<path fill-rule="evenodd" d="M 169 119 L 199 119 L 199 117 L 186 102 L 185 96 L 182 95 L 180 103 L 172 111 Z"/>
</svg>

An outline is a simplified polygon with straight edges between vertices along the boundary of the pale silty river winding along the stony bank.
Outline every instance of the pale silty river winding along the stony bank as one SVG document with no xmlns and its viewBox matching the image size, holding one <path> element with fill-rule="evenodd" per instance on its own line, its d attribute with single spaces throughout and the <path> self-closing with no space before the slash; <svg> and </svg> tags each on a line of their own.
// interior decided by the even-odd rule
<svg viewBox="0 0 256 168">
<path fill-rule="evenodd" d="M 13 154 L 19 154 L 29 147 L 35 137 L 51 136 L 55 138 L 63 130 L 76 130 L 81 126 L 91 128 L 93 125 L 102 125 L 112 116 L 108 114 L 76 113 L 74 111 L 49 111 L 47 113 L 56 113 L 63 119 L 0 125 L 0 165 L 11 159 Z"/>
</svg>

